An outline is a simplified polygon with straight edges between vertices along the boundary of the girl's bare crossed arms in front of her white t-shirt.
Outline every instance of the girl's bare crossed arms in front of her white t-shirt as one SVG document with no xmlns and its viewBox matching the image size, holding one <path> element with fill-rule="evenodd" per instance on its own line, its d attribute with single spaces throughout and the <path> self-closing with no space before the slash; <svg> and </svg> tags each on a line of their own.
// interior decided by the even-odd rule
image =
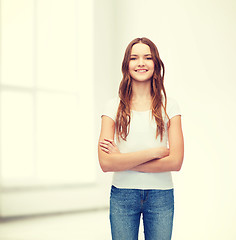
<svg viewBox="0 0 236 240">
<path fill-rule="evenodd" d="M 113 139 L 115 122 L 102 117 L 98 144 L 99 163 L 104 172 L 133 170 L 139 172 L 179 171 L 184 158 L 184 140 L 181 116 L 170 119 L 168 128 L 169 149 L 150 148 L 137 152 L 120 153 Z"/>
</svg>

